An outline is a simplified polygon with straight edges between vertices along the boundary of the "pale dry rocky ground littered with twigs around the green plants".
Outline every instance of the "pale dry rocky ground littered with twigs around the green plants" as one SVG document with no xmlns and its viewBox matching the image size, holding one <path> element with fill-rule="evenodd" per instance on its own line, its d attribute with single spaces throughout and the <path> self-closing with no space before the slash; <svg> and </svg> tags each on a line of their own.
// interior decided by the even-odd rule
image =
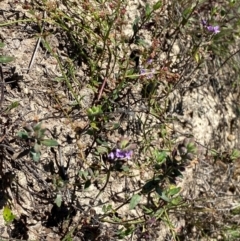
<svg viewBox="0 0 240 241">
<path fill-rule="evenodd" d="M 169 3 L 164 4 L 168 6 Z M 175 210 L 172 207 L 164 209 L 164 201 L 159 201 L 161 210 L 169 211 L 169 221 L 160 218 L 154 224 L 147 223 L 149 239 L 137 235 L 137 231 L 124 238 L 224 240 L 219 228 L 221 224 L 239 222 L 238 212 L 232 215 L 232 210 L 239 206 L 240 173 L 237 152 L 240 141 L 239 91 L 232 85 L 236 80 L 234 71 L 228 65 L 217 65 L 210 59 L 205 68 L 196 69 L 194 74 L 191 69 L 181 72 L 176 66 L 182 61 L 179 55 L 187 55 L 184 48 L 188 39 L 179 38 L 169 52 L 157 52 L 155 56 L 159 62 L 153 65 L 154 68 L 171 57 L 169 74 L 174 83 L 173 90 L 168 93 L 166 80 L 169 76 L 164 75 L 163 85 L 155 86 L 159 108 L 166 107 L 161 118 L 150 115 L 149 102 L 142 94 L 145 82 L 139 78 L 126 86 L 117 102 L 112 100 L 115 111 L 108 117 L 110 127 L 102 127 L 103 131 L 96 137 L 89 134 L 92 126 L 87 109 L 102 104 L 102 99 L 98 98 L 97 88 L 89 84 L 87 63 L 79 60 L 82 63 L 75 61 L 76 65 L 71 65 L 68 59 L 76 50 L 71 50 L 68 34 L 51 25 L 50 20 L 44 26 L 47 36 L 43 36 L 38 24 L 46 13 L 38 9 L 39 22 L 29 20 L 33 16 L 29 10 L 36 5 L 34 1 L 0 1 L 0 40 L 6 45 L 2 54 L 15 57 L 13 62 L 1 67 L 1 238 L 48 241 L 120 239 L 119 230 L 126 228 L 125 220 L 131 220 L 130 228 L 136 220 L 141 223 L 147 219 L 140 207 L 129 210 L 126 203 L 129 204 L 131 196 L 154 176 L 149 161 L 153 153 L 151 148 L 163 149 L 169 141 L 172 152 L 178 150 L 176 160 L 181 160 L 179 150 L 186 147 L 188 141 L 194 143 L 197 151 L 187 163 L 174 166 L 181 175 L 172 177 L 174 185 L 181 187 L 180 195 L 185 205 L 176 206 Z M 145 5 L 137 0 L 127 3 L 125 15 L 129 23 L 134 22 L 136 15 L 141 15 Z M 63 1 L 59 2 L 58 8 L 70 15 L 67 6 Z M 167 7 L 165 11 L 168 11 Z M 9 22 L 11 24 L 5 24 Z M 125 37 L 130 38 L 132 31 L 132 24 L 126 24 L 123 29 Z M 144 29 L 140 33 L 149 46 L 154 40 L 150 32 L 151 29 Z M 119 48 L 123 51 L 124 45 Z M 128 55 L 131 51 L 142 50 L 133 43 Z M 140 61 L 141 65 L 145 64 L 144 58 Z M 61 62 L 65 65 L 59 64 Z M 113 69 L 112 60 L 110 62 L 108 65 L 108 60 L 103 58 L 101 71 Z M 71 75 L 71 68 L 75 68 L 71 88 L 63 81 L 64 68 L 68 70 L 63 71 L 66 75 Z M 116 65 L 114 71 L 117 72 L 118 68 Z M 218 72 L 212 71 L 218 68 Z M 114 71 L 111 76 L 116 74 Z M 108 79 L 106 93 L 113 92 L 117 84 Z M 80 105 L 76 105 L 73 93 L 81 97 Z M 165 93 L 168 93 L 167 98 Z M 40 161 L 34 162 L 28 155 L 31 140 L 21 139 L 17 133 L 39 122 L 46 129 L 46 137 L 57 140 L 59 145 L 42 147 Z M 115 130 L 111 127 L 114 124 L 120 127 Z M 163 129 L 166 135 L 163 135 Z M 146 138 L 144 133 L 149 136 Z M 123 137 L 130 137 L 135 146 L 133 158 L 127 162 L 109 162 L 104 142 L 114 148 Z M 144 146 L 146 139 L 149 142 Z M 145 150 L 146 146 L 149 148 Z M 172 153 L 171 157 L 174 159 L 175 154 Z M 121 171 L 119 166 L 123 168 Z M 61 202 L 60 207 L 57 202 Z M 147 195 L 138 206 L 146 202 Z M 4 221 L 6 206 L 16 215 L 10 225 L 5 225 Z M 114 210 L 112 216 L 106 209 Z"/>
</svg>

